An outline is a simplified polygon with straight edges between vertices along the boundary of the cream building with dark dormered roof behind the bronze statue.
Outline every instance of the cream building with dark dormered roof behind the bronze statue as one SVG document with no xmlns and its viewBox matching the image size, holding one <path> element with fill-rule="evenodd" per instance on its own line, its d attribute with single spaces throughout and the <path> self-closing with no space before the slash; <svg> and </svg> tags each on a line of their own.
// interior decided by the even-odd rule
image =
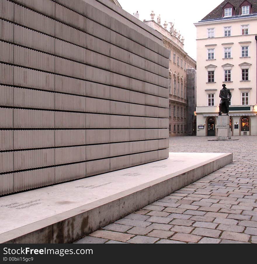
<svg viewBox="0 0 257 264">
<path fill-rule="evenodd" d="M 220 89 L 230 89 L 232 136 L 257 134 L 257 1 L 223 1 L 197 28 L 197 136 L 216 136 Z"/>
</svg>

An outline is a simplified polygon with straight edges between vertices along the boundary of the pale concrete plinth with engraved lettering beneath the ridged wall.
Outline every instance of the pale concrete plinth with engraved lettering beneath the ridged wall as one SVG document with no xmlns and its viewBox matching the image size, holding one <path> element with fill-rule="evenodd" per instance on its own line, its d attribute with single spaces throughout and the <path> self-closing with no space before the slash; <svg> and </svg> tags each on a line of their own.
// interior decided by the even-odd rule
<svg viewBox="0 0 257 264">
<path fill-rule="evenodd" d="M 162 161 L 0 197 L 0 243 L 75 241 L 232 160 L 232 153 L 170 153 Z"/>
</svg>

